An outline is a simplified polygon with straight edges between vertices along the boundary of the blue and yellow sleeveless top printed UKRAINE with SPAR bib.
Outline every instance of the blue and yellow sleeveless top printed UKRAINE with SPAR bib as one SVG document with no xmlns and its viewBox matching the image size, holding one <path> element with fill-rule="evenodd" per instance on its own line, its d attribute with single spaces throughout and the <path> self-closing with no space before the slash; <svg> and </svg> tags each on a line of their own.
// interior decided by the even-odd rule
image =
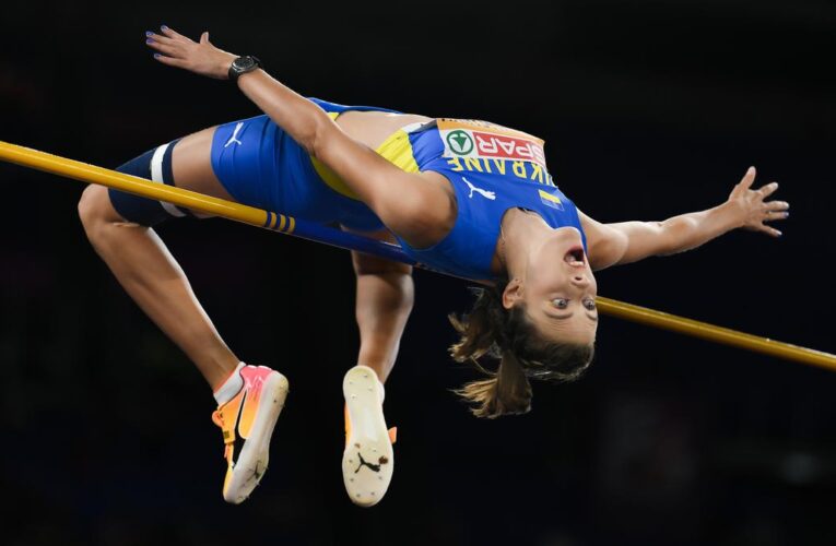
<svg viewBox="0 0 836 546">
<path fill-rule="evenodd" d="M 431 269 L 493 280 L 499 224 L 515 206 L 534 211 L 550 227 L 577 228 L 586 249 L 577 209 L 554 185 L 537 136 L 486 121 L 436 119 L 401 129 L 378 153 L 410 173 L 439 173 L 452 186 L 458 213 L 443 240 L 416 249 L 399 238 L 410 257 Z"/>
</svg>

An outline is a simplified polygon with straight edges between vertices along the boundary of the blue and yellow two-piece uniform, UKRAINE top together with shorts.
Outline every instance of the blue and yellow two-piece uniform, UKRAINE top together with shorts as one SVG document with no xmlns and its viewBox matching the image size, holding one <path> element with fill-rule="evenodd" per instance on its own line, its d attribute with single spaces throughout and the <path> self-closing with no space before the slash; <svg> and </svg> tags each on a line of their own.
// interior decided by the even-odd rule
<svg viewBox="0 0 836 546">
<path fill-rule="evenodd" d="M 332 118 L 348 110 L 393 111 L 310 100 Z M 384 227 L 339 176 L 267 116 L 220 126 L 212 147 L 215 174 L 242 203 L 353 229 Z M 439 173 L 452 186 L 458 213 L 443 240 L 416 249 L 399 238 L 403 250 L 429 269 L 493 280 L 499 223 L 515 206 L 534 211 L 553 228 L 576 227 L 586 247 L 577 210 L 554 185 L 537 136 L 486 121 L 435 119 L 396 131 L 377 153 L 408 173 Z"/>
</svg>

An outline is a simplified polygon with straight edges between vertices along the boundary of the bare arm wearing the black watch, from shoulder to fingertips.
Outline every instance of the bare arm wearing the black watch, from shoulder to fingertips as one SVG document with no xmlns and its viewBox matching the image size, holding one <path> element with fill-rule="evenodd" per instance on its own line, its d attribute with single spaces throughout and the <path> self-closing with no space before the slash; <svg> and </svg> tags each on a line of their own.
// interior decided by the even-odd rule
<svg viewBox="0 0 836 546">
<path fill-rule="evenodd" d="M 149 46 L 163 54 L 155 56 L 160 62 L 227 79 L 237 56 L 213 46 L 208 33 L 196 43 L 167 27 L 162 32 L 149 35 Z M 345 134 L 319 106 L 261 69 L 240 75 L 238 87 L 309 154 L 337 173 L 389 229 L 409 242 L 439 240 L 449 229 L 454 204 L 440 186 L 390 164 Z"/>
</svg>

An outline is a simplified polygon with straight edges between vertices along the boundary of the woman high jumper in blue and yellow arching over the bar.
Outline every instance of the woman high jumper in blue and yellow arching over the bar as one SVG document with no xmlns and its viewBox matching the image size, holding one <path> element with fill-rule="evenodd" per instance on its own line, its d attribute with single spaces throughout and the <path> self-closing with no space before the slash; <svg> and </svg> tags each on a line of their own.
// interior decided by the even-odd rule
<svg viewBox="0 0 836 546">
<path fill-rule="evenodd" d="M 788 216 L 752 189 L 750 168 L 729 198 L 663 222 L 599 223 L 554 185 L 543 141 L 485 121 L 433 119 L 385 108 L 305 98 L 251 56 L 162 26 L 146 33 L 162 63 L 231 80 L 264 115 L 175 140 L 118 170 L 161 183 L 281 212 L 399 244 L 431 269 L 485 285 L 470 313 L 450 316 L 461 335 L 450 352 L 488 378 L 459 393 L 480 417 L 525 413 L 529 378 L 568 381 L 592 359 L 598 324 L 593 270 L 671 254 L 746 228 L 779 236 L 766 222 Z M 268 464 L 287 393 L 284 376 L 242 363 L 198 302 L 152 227 L 192 215 L 168 203 L 85 189 L 79 203 L 98 254 L 145 313 L 197 365 L 214 392 L 213 420 L 227 461 L 223 497 L 245 500 Z M 378 502 L 392 475 L 384 387 L 412 309 L 411 268 L 352 252 L 356 272 L 358 365 L 343 380 L 346 490 Z M 495 371 L 478 359 L 498 359 Z"/>
</svg>

